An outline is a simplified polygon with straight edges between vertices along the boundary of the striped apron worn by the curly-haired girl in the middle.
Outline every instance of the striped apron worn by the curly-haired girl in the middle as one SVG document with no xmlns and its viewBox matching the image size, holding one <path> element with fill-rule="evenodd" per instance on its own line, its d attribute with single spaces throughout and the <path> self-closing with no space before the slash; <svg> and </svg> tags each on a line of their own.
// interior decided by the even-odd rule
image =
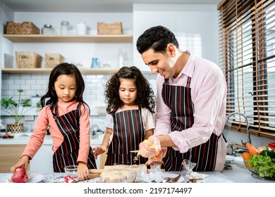
<svg viewBox="0 0 275 197">
<path fill-rule="evenodd" d="M 112 112 L 114 119 L 114 134 L 107 151 L 105 165 L 139 165 L 144 164 L 147 158 L 139 157 L 134 161 L 140 142 L 145 139 L 145 129 L 142 123 L 141 108 Z"/>
</svg>

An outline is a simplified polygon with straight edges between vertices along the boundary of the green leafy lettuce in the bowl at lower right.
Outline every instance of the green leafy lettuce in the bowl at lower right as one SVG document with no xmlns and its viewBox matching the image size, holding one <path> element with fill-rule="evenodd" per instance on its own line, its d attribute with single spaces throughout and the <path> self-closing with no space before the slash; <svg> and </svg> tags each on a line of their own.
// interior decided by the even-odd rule
<svg viewBox="0 0 275 197">
<path fill-rule="evenodd" d="M 274 177 L 275 176 L 275 159 L 269 156 L 253 155 L 247 160 L 249 165 L 252 165 L 253 170 L 259 174 L 260 177 Z"/>
</svg>

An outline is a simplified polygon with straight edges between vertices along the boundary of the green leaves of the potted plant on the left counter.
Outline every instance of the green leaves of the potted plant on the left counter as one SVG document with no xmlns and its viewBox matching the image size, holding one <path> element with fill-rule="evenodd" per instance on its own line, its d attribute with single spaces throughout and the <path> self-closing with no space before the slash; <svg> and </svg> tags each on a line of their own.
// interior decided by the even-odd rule
<svg viewBox="0 0 275 197">
<path fill-rule="evenodd" d="M 30 107 L 30 98 L 22 98 L 21 99 L 21 94 L 23 92 L 23 89 L 18 89 L 19 92 L 19 98 L 18 102 L 13 100 L 12 97 L 4 97 L 1 98 L 1 109 L 8 113 L 9 115 L 14 117 L 15 123 L 18 123 L 19 120 L 29 111 L 31 108 L 26 108 Z M 20 108 L 21 106 L 21 108 Z"/>
</svg>

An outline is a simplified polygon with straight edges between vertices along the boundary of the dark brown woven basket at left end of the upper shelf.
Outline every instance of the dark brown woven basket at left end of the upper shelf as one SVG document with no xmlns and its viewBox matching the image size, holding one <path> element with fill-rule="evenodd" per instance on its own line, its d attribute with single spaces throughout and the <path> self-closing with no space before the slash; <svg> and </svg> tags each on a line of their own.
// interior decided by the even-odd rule
<svg viewBox="0 0 275 197">
<path fill-rule="evenodd" d="M 6 22 L 6 34 L 39 34 L 40 30 L 32 22 L 13 23 Z"/>
</svg>

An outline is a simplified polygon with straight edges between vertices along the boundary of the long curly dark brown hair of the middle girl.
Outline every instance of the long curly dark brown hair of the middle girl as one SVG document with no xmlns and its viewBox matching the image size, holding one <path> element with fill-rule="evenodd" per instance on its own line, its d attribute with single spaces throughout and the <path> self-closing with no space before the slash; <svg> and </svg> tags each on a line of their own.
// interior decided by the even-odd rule
<svg viewBox="0 0 275 197">
<path fill-rule="evenodd" d="M 118 72 L 111 76 L 111 79 L 106 82 L 105 86 L 105 102 L 108 104 L 106 108 L 107 113 L 112 113 L 114 108 L 123 105 L 123 101 L 119 98 L 118 90 L 121 85 L 119 79 L 135 80 L 135 85 L 138 89 L 135 103 L 141 108 L 147 108 L 151 113 L 154 113 L 156 105 L 156 97 L 154 91 L 150 87 L 148 80 L 142 75 L 142 72 L 135 66 L 124 66 Z"/>
</svg>

